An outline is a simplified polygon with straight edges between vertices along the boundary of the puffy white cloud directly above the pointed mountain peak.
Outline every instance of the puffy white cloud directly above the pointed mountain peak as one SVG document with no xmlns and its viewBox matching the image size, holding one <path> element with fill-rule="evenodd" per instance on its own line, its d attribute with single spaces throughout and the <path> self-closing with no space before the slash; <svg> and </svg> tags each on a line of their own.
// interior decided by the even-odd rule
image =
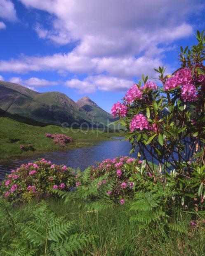
<svg viewBox="0 0 205 256">
<path fill-rule="evenodd" d="M 78 93 L 92 93 L 97 89 L 104 92 L 122 92 L 133 85 L 133 81 L 111 76 L 88 76 L 83 81 L 72 79 L 65 82 L 69 88 L 76 89 Z"/>
</svg>

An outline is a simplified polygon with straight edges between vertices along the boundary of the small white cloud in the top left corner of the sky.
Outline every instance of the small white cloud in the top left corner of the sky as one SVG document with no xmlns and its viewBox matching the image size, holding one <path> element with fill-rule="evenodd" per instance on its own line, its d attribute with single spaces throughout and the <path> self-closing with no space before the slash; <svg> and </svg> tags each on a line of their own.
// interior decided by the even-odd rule
<svg viewBox="0 0 205 256">
<path fill-rule="evenodd" d="M 0 0 L 0 18 L 17 21 L 16 10 L 12 1 Z"/>
</svg>

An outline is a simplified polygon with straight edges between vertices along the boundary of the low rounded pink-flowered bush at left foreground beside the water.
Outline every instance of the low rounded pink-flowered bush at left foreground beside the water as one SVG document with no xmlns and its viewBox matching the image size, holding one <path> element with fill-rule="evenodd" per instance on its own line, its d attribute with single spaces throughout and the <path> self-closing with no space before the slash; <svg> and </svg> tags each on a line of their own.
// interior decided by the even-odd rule
<svg viewBox="0 0 205 256">
<path fill-rule="evenodd" d="M 24 201 L 44 197 L 52 193 L 52 189 L 69 190 L 75 187 L 75 183 L 73 169 L 41 159 L 12 170 L 6 175 L 0 189 L 7 199 Z"/>
</svg>

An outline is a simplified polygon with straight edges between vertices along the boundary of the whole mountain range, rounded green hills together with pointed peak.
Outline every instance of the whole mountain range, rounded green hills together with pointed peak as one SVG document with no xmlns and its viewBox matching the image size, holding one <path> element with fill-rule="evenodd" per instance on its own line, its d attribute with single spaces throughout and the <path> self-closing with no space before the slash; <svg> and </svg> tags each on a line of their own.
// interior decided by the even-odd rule
<svg viewBox="0 0 205 256">
<path fill-rule="evenodd" d="M 0 81 L 0 109 L 0 113 L 54 125 L 86 122 L 89 126 L 94 123 L 94 126 L 101 127 L 115 121 L 87 96 L 74 102 L 61 92 L 40 93 L 5 81 Z"/>
</svg>

